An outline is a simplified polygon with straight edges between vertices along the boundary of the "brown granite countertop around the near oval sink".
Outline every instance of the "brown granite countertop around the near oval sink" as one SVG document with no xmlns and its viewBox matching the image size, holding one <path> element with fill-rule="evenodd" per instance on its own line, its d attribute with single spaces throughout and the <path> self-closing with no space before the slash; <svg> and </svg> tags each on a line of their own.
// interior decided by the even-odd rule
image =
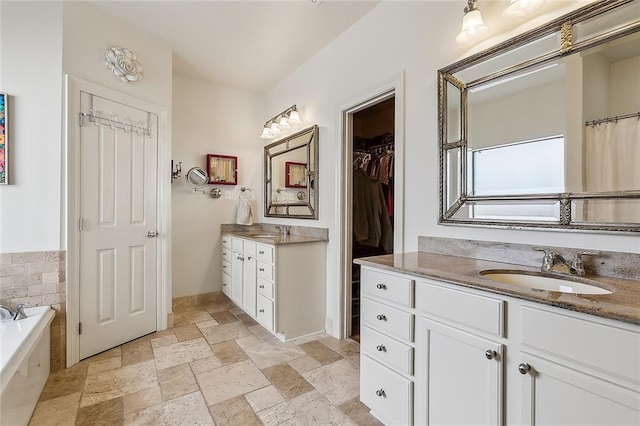
<svg viewBox="0 0 640 426">
<path fill-rule="evenodd" d="M 600 287 L 612 290 L 613 293 L 583 295 L 530 290 L 498 283 L 480 275 L 480 271 L 486 269 L 540 271 L 539 268 L 530 266 L 426 252 L 366 257 L 355 259 L 354 262 L 640 325 L 640 281 L 585 276 L 584 278 L 596 281 Z"/>
</svg>

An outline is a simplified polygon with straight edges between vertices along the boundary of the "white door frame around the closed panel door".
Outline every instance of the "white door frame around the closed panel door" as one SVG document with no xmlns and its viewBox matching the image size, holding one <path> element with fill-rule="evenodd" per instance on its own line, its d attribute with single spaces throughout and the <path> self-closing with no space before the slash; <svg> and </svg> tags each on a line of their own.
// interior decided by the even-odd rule
<svg viewBox="0 0 640 426">
<path fill-rule="evenodd" d="M 80 361 L 80 92 L 121 102 L 132 107 L 154 113 L 158 116 L 158 201 L 157 201 L 157 330 L 167 328 L 167 315 L 171 312 L 171 123 L 167 109 L 149 102 L 125 95 L 81 78 L 65 75 L 65 120 L 66 140 L 66 244 L 67 244 L 67 367 Z M 64 160 L 63 160 L 64 161 Z M 65 185 L 65 183 L 63 183 Z M 63 215 L 64 216 L 64 215 Z M 63 226 L 64 229 L 64 226 Z M 64 238 L 64 235 L 63 235 Z"/>
</svg>

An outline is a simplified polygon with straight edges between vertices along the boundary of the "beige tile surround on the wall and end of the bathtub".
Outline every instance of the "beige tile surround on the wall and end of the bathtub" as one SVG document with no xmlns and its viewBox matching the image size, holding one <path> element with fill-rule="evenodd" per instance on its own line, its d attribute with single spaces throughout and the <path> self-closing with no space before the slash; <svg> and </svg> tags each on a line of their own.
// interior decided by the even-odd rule
<svg viewBox="0 0 640 426">
<path fill-rule="evenodd" d="M 15 306 L 50 305 L 51 371 L 66 366 L 66 252 L 0 253 L 0 300 Z"/>
</svg>

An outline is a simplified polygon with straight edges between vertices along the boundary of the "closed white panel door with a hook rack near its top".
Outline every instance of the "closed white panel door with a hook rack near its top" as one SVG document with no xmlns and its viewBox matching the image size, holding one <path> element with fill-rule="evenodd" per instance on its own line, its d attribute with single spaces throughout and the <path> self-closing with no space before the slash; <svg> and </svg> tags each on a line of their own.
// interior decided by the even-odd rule
<svg viewBox="0 0 640 426">
<path fill-rule="evenodd" d="M 156 330 L 158 119 L 84 92 L 81 111 L 103 117 L 80 131 L 82 359 Z"/>
</svg>

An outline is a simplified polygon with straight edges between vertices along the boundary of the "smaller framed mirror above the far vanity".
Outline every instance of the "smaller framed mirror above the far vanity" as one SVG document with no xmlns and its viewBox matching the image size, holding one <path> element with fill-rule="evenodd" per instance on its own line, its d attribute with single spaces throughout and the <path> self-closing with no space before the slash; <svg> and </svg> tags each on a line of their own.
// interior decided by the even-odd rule
<svg viewBox="0 0 640 426">
<path fill-rule="evenodd" d="M 318 126 L 264 148 L 265 216 L 318 218 Z"/>
</svg>

